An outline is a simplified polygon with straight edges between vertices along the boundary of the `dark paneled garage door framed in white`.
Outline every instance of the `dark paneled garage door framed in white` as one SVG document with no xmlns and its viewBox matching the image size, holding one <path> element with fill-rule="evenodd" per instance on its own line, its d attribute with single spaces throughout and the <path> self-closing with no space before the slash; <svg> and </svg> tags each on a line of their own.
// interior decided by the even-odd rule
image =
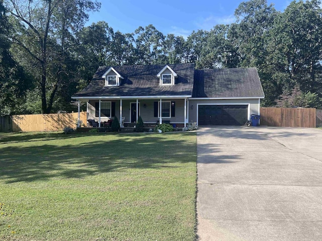
<svg viewBox="0 0 322 241">
<path fill-rule="evenodd" d="M 243 126 L 248 120 L 248 104 L 199 104 L 199 126 Z"/>
</svg>

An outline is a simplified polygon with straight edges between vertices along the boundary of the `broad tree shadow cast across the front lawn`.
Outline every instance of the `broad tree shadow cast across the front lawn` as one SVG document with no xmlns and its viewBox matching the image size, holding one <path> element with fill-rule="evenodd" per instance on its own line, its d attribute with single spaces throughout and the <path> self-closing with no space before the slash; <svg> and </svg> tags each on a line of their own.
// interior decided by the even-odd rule
<svg viewBox="0 0 322 241">
<path fill-rule="evenodd" d="M 0 145 L 0 179 L 6 183 L 31 182 L 55 177 L 84 178 L 131 168 L 176 168 L 196 161 L 196 143 L 184 136 L 195 134 L 30 134 L 14 138 L 15 142 L 30 142 L 23 146 L 9 146 L 13 140 L 7 139 L 9 144 Z M 75 137 L 79 139 L 63 145 L 64 139 Z"/>
</svg>

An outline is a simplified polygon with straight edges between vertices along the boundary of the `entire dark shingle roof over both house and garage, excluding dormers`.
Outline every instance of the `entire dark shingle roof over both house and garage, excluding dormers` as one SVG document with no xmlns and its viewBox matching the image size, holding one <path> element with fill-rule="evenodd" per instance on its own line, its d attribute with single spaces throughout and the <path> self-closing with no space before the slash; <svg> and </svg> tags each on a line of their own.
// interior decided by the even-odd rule
<svg viewBox="0 0 322 241">
<path fill-rule="evenodd" d="M 264 97 L 256 68 L 194 70 L 194 64 L 168 64 L 178 75 L 175 85 L 159 86 L 156 76 L 166 65 L 122 65 L 113 68 L 122 76 L 120 86 L 105 86 L 100 66 L 91 83 L 74 97 L 178 96 L 211 98 Z"/>
</svg>

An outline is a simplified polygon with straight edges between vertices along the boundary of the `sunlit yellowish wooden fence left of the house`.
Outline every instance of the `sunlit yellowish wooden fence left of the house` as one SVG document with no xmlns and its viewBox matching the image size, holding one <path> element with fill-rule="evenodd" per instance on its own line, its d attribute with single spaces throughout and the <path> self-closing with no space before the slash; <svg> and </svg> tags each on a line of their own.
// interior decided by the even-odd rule
<svg viewBox="0 0 322 241">
<path fill-rule="evenodd" d="M 52 132 L 64 127 L 75 128 L 78 112 L 61 114 L 20 114 L 11 116 L 13 132 Z M 81 121 L 87 124 L 87 113 L 80 113 Z"/>
</svg>

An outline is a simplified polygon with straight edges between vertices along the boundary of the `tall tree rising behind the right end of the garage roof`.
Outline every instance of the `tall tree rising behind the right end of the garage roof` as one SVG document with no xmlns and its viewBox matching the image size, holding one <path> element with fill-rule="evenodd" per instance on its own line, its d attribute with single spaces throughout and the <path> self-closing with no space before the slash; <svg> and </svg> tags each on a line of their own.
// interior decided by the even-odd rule
<svg viewBox="0 0 322 241">
<path fill-rule="evenodd" d="M 258 69 L 265 99 L 264 105 L 274 104 L 281 93 L 280 81 L 285 76 L 271 66 L 267 59 L 269 31 L 280 13 L 266 0 L 251 0 L 241 3 L 235 10 L 236 23 L 230 25 L 227 38 L 231 44 L 233 67 L 256 67 Z M 231 65 L 232 66 L 232 65 Z"/>
</svg>

